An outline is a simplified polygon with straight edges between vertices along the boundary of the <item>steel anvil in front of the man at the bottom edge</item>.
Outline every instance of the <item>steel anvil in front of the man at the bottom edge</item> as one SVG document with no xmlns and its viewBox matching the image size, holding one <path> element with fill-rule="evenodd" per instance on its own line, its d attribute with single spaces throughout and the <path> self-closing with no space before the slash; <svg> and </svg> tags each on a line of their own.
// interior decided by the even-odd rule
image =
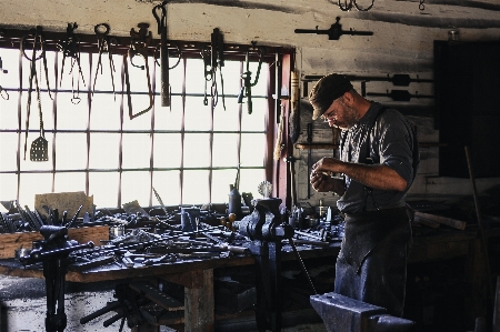
<svg viewBox="0 0 500 332">
<path fill-rule="evenodd" d="M 412 321 L 387 314 L 382 306 L 334 292 L 309 299 L 328 332 L 406 332 L 413 326 Z"/>
</svg>

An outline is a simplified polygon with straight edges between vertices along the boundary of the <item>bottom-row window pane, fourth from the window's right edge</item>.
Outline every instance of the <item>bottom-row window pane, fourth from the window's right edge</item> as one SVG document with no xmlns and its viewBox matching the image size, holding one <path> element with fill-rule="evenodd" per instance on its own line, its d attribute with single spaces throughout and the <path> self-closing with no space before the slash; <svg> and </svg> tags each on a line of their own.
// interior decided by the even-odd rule
<svg viewBox="0 0 500 332">
<path fill-rule="evenodd" d="M 157 190 L 164 205 L 178 205 L 181 203 L 179 171 L 153 172 L 152 187 Z M 152 199 L 152 204 L 160 204 L 156 197 Z"/>
</svg>

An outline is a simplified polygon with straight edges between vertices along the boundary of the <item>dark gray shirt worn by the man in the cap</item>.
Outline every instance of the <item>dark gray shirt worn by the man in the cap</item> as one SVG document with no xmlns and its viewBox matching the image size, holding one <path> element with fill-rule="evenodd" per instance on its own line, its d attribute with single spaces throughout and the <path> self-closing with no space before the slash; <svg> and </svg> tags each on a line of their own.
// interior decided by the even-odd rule
<svg viewBox="0 0 500 332">
<path fill-rule="evenodd" d="M 359 122 L 347 131 L 344 143 L 340 151 L 340 159 L 347 162 L 367 163 L 368 154 L 367 131 L 373 123 L 381 104 L 373 102 Z M 410 188 L 413 180 L 412 151 L 417 142 L 412 133 L 411 124 L 398 111 L 387 109 L 376 120 L 373 129 L 369 133 L 370 157 L 372 164 L 384 164 L 393 169 L 403 178 Z M 374 211 L 404 207 L 406 191 L 378 190 L 371 193 L 363 184 L 346 175 L 346 192 L 337 201 L 337 207 L 343 213 L 359 214 L 363 211 Z"/>
</svg>

